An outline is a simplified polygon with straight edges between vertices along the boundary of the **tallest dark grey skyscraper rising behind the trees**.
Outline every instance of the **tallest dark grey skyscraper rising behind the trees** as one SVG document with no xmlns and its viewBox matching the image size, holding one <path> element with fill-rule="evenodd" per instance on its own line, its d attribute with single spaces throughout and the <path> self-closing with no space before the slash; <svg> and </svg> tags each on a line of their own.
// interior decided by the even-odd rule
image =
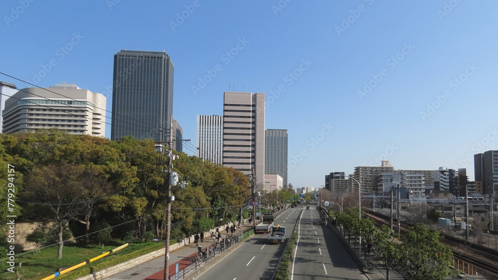
<svg viewBox="0 0 498 280">
<path fill-rule="evenodd" d="M 173 72 L 165 52 L 122 50 L 114 55 L 111 140 L 169 141 Z"/>
</svg>

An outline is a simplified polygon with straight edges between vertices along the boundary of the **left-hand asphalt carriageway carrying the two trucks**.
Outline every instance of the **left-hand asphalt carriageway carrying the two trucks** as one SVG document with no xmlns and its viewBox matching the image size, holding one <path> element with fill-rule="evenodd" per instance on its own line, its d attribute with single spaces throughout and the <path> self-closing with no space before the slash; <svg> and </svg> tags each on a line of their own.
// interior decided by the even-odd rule
<svg viewBox="0 0 498 280">
<path fill-rule="evenodd" d="M 287 238 L 290 238 L 296 219 L 302 208 L 290 208 L 284 211 L 275 225 L 287 228 Z M 308 210 L 309 211 L 309 210 Z M 246 240 L 237 250 L 219 261 L 214 267 L 198 275 L 200 280 L 268 280 L 271 279 L 280 256 L 283 254 L 283 244 L 268 243 L 268 234 L 259 234 Z"/>
</svg>

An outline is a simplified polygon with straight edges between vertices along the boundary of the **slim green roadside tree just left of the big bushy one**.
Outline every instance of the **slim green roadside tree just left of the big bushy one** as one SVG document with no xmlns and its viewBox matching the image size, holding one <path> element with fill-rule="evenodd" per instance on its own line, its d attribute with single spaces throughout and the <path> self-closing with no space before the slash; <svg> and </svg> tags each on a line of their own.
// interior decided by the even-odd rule
<svg viewBox="0 0 498 280">
<path fill-rule="evenodd" d="M 398 250 L 398 244 L 394 242 L 391 236 L 391 229 L 382 225 L 373 234 L 373 243 L 377 246 L 377 254 L 385 265 L 386 280 L 389 280 L 389 271 L 394 264 L 399 262 L 401 257 Z"/>
</svg>

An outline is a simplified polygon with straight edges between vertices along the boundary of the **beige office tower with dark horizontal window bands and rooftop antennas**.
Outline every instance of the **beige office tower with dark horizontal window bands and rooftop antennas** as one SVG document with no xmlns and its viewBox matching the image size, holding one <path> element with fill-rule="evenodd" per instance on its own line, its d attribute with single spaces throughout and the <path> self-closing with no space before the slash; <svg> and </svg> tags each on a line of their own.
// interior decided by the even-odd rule
<svg viewBox="0 0 498 280">
<path fill-rule="evenodd" d="M 264 93 L 225 92 L 223 165 L 264 182 Z"/>
</svg>

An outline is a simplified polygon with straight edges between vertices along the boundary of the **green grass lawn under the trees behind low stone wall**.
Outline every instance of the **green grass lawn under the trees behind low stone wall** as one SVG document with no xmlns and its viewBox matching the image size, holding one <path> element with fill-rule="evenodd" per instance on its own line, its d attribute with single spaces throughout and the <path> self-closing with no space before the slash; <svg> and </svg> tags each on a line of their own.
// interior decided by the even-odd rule
<svg viewBox="0 0 498 280">
<path fill-rule="evenodd" d="M 98 246 L 96 244 L 84 244 L 84 243 L 68 244 L 64 245 L 62 249 L 61 260 L 57 259 L 58 246 L 42 249 L 40 250 L 40 252 L 37 252 L 36 254 L 29 253 L 21 255 L 21 253 L 17 253 L 15 256 L 14 271 L 18 271 L 20 273 L 20 275 L 22 276 L 21 279 L 39 280 L 54 274 L 61 267 L 70 268 L 72 266 L 85 262 L 86 260 L 95 258 L 104 252 L 113 250 L 114 248 L 117 248 L 121 245 L 123 245 L 123 243 L 119 241 L 114 241 L 109 246 L 104 246 L 104 249 L 102 249 L 102 246 Z M 130 257 L 129 259 L 132 259 L 139 255 L 159 250 L 160 248 L 164 248 L 164 244 L 161 241 L 134 242 L 129 244 L 124 249 L 121 249 L 95 262 L 80 267 L 73 272 L 59 276 L 56 279 L 58 280 L 76 279 L 78 277 L 83 276 L 80 274 L 82 274 L 84 271 L 85 271 L 84 275 L 87 275 L 90 272 L 95 272 L 100 269 L 103 269 L 100 267 L 109 265 L 107 263 L 109 263 L 110 261 L 114 260 L 114 262 L 122 263 L 126 261 L 124 260 L 125 255 L 128 255 L 128 257 Z M 22 263 L 22 268 L 19 269 L 20 263 Z M 9 266 L 6 264 L 6 262 L 2 262 L 0 264 L 0 279 L 16 280 L 17 276 L 14 273 L 8 272 L 7 268 L 9 268 Z"/>
</svg>

